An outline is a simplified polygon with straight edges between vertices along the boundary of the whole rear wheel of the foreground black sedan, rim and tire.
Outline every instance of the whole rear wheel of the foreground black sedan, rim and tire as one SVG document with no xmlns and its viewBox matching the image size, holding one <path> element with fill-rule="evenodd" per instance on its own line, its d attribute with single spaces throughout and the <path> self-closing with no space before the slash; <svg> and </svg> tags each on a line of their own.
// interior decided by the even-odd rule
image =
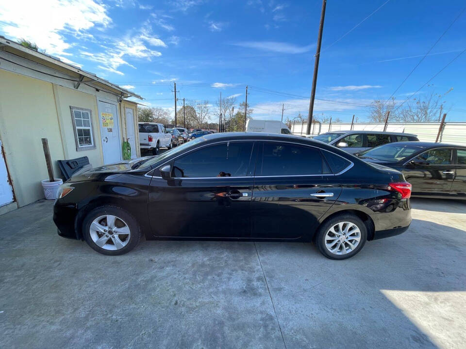
<svg viewBox="0 0 466 349">
<path fill-rule="evenodd" d="M 347 259 L 357 254 L 367 240 L 366 224 L 352 214 L 339 214 L 317 230 L 319 251 L 331 259 Z"/>
</svg>

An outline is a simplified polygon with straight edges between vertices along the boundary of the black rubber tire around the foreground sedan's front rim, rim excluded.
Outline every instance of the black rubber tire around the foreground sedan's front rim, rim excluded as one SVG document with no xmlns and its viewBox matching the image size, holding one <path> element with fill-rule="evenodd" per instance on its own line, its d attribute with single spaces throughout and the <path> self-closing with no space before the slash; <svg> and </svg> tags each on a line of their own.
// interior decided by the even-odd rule
<svg viewBox="0 0 466 349">
<path fill-rule="evenodd" d="M 91 238 L 90 226 L 92 222 L 103 215 L 114 215 L 119 219 L 123 220 L 129 227 L 131 234 L 129 235 L 128 243 L 119 250 L 106 250 L 98 246 L 94 240 Z M 126 254 L 133 250 L 137 246 L 141 238 L 141 229 L 137 224 L 135 218 L 126 210 L 117 207 L 117 206 L 101 206 L 90 211 L 83 221 L 83 237 L 87 244 L 95 251 L 106 254 L 106 255 L 119 255 Z"/>
</svg>

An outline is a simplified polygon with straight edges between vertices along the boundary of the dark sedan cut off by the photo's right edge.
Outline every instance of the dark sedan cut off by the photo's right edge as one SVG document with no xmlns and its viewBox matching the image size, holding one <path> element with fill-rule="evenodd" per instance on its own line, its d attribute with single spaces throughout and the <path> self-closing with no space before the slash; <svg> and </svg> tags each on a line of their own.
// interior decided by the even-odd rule
<svg viewBox="0 0 466 349">
<path fill-rule="evenodd" d="M 404 174 L 413 196 L 466 199 L 466 147 L 445 143 L 398 142 L 358 154 Z"/>
</svg>

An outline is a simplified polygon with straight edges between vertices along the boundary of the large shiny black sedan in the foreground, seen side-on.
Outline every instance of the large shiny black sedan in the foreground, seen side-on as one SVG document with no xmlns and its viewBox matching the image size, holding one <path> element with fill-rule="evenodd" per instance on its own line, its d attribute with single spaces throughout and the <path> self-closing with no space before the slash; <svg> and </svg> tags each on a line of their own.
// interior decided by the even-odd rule
<svg viewBox="0 0 466 349">
<path fill-rule="evenodd" d="M 403 174 L 291 135 L 216 133 L 161 155 L 72 177 L 59 191 L 58 234 L 102 254 L 147 239 L 314 240 L 345 259 L 366 240 L 404 232 Z M 176 229 L 173 222 L 177 222 Z"/>
</svg>

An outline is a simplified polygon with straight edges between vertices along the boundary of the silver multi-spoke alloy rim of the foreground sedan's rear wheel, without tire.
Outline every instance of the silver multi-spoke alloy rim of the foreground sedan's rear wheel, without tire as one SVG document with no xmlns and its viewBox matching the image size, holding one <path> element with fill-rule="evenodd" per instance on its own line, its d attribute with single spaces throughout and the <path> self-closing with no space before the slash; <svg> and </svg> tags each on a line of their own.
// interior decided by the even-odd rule
<svg viewBox="0 0 466 349">
<path fill-rule="evenodd" d="M 352 222 L 338 222 L 325 235 L 325 247 L 332 254 L 348 254 L 361 241 L 361 230 Z"/>
</svg>

